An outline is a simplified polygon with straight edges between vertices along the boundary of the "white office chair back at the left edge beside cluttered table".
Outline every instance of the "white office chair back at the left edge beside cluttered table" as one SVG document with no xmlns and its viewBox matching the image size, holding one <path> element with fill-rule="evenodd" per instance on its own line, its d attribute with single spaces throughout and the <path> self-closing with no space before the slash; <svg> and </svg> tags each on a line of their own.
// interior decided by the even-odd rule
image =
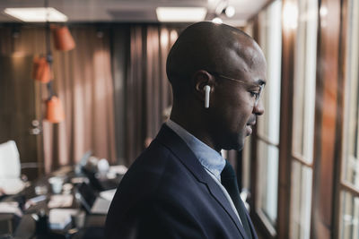
<svg viewBox="0 0 359 239">
<path fill-rule="evenodd" d="M 22 191 L 25 183 L 21 179 L 22 166 L 15 141 L 0 144 L 0 191 L 15 194 Z"/>
</svg>

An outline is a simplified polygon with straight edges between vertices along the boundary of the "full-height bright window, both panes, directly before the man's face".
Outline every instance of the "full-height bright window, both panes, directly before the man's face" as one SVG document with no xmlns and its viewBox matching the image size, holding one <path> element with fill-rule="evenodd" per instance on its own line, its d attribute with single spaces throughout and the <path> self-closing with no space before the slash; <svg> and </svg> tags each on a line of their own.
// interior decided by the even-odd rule
<svg viewBox="0 0 359 239">
<path fill-rule="evenodd" d="M 256 210 L 267 229 L 275 230 L 278 204 L 279 116 L 281 90 L 282 2 L 275 1 L 258 15 L 259 46 L 267 58 L 267 85 L 262 96 L 265 114 L 258 117 L 258 180 Z"/>
</svg>

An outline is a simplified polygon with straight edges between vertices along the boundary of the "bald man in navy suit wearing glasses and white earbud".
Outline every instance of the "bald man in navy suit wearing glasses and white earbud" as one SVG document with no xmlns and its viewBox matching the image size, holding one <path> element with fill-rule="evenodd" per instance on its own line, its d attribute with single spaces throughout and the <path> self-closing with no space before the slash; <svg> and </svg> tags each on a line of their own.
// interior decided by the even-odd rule
<svg viewBox="0 0 359 239">
<path fill-rule="evenodd" d="M 221 149 L 243 148 L 264 109 L 266 60 L 228 25 L 197 22 L 167 58 L 170 119 L 118 186 L 106 238 L 257 238 Z"/>
</svg>

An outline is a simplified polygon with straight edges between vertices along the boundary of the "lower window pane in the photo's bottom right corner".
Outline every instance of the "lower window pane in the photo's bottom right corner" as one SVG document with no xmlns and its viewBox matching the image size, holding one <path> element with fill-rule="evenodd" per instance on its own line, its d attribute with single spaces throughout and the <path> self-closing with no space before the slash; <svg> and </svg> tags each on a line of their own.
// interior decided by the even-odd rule
<svg viewBox="0 0 359 239">
<path fill-rule="evenodd" d="M 341 193 L 340 238 L 359 238 L 359 198 Z"/>
</svg>

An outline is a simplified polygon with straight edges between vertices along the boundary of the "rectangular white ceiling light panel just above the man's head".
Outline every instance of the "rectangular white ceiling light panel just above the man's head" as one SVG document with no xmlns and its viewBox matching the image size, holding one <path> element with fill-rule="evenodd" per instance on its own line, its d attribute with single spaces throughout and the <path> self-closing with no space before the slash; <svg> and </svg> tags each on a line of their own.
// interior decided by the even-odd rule
<svg viewBox="0 0 359 239">
<path fill-rule="evenodd" d="M 204 21 L 207 10 L 205 7 L 157 7 L 158 21 Z"/>
</svg>

